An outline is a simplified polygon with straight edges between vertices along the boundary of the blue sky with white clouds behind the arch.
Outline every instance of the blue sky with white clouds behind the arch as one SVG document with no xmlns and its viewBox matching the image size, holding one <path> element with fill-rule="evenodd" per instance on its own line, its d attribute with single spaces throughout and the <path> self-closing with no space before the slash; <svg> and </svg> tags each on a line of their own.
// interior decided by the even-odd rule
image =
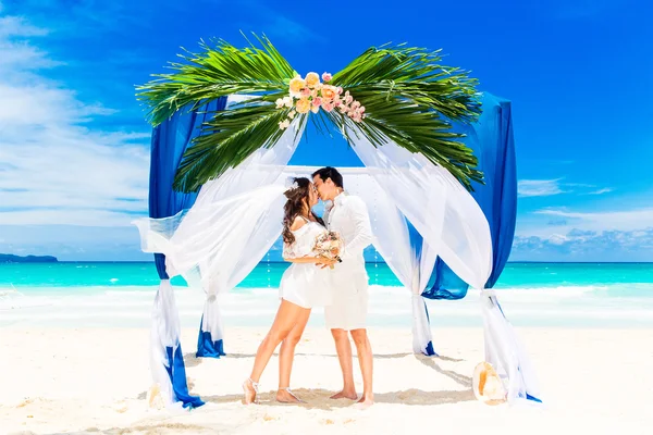
<svg viewBox="0 0 653 435">
<path fill-rule="evenodd" d="M 387 41 L 442 48 L 513 101 L 510 259 L 653 261 L 653 5 L 189 4 L 0 0 L 0 252 L 149 259 L 130 225 L 147 210 L 150 133 L 134 85 L 200 38 L 244 45 L 242 29 L 266 33 L 303 74 Z"/>
</svg>

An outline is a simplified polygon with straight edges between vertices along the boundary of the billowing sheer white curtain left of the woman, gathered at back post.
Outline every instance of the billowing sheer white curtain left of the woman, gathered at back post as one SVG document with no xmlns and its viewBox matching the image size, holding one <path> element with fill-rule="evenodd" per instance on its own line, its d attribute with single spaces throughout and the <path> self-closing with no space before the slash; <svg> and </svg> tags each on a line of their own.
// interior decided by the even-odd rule
<svg viewBox="0 0 653 435">
<path fill-rule="evenodd" d="M 164 253 L 170 276 L 205 290 L 200 334 L 209 332 L 212 341 L 223 335 L 220 294 L 244 279 L 281 234 L 286 188 L 279 181 L 301 137 L 296 126 L 205 184 L 189 210 L 134 222 L 144 251 Z"/>
</svg>

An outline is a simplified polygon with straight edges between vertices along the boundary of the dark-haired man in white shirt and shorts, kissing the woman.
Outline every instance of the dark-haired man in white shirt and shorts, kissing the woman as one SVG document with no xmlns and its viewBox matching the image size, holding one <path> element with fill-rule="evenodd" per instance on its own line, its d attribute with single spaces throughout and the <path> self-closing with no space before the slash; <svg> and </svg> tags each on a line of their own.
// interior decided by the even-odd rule
<svg viewBox="0 0 653 435">
<path fill-rule="evenodd" d="M 326 327 L 335 340 L 335 349 L 343 371 L 343 390 L 332 399 L 355 400 L 352 345 L 347 332 L 356 344 L 362 373 L 362 397 L 359 402 L 374 402 L 372 393 L 372 347 L 367 336 L 366 320 L 368 306 L 368 275 L 365 270 L 364 249 L 372 243 L 370 216 L 365 202 L 347 195 L 343 188 L 343 176 L 334 167 L 322 167 L 312 174 L 313 184 L 322 201 L 332 207 L 324 213 L 326 228 L 343 238 L 345 249 L 341 262 L 334 263 L 333 303 L 324 308 Z"/>
</svg>

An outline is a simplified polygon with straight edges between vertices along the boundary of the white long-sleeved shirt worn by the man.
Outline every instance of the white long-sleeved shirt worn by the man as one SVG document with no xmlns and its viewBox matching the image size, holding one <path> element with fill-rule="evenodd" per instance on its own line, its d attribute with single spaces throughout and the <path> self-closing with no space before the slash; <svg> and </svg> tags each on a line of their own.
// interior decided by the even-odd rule
<svg viewBox="0 0 653 435">
<path fill-rule="evenodd" d="M 335 269 L 341 272 L 360 273 L 366 276 L 362 252 L 373 240 L 372 226 L 367 206 L 356 196 L 342 192 L 333 200 L 333 206 L 324 213 L 324 222 L 330 231 L 341 235 L 345 249 L 342 263 Z"/>
</svg>

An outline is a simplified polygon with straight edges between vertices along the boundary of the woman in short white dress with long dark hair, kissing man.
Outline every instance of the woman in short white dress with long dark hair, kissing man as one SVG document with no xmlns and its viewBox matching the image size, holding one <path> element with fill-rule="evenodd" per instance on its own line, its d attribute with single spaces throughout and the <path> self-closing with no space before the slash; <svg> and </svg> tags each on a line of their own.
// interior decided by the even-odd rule
<svg viewBox="0 0 653 435">
<path fill-rule="evenodd" d="M 251 374 L 243 383 L 246 405 L 257 401 L 259 380 L 280 343 L 276 400 L 301 402 L 289 388 L 295 346 L 301 338 L 311 308 L 330 302 L 326 266 L 333 265 L 334 260 L 317 257 L 313 252 L 316 237 L 325 232 L 322 220 L 311 211 L 318 203 L 316 186 L 308 178 L 294 178 L 293 186 L 284 195 L 287 200 L 282 233 L 283 258 L 293 264 L 281 278 L 281 304 L 276 316 L 256 352 Z"/>
</svg>

